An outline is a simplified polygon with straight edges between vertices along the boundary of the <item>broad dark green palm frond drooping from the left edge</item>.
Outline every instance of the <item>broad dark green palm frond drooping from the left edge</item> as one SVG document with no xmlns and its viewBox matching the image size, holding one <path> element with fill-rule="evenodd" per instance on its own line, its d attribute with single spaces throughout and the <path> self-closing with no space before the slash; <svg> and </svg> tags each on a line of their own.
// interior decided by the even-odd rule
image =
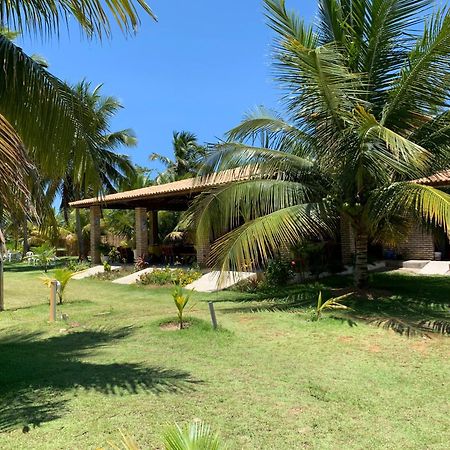
<svg viewBox="0 0 450 450">
<path fill-rule="evenodd" d="M 95 139 L 92 115 L 71 89 L 0 35 L 0 112 L 45 174 L 64 170 L 70 151 Z"/>
</svg>

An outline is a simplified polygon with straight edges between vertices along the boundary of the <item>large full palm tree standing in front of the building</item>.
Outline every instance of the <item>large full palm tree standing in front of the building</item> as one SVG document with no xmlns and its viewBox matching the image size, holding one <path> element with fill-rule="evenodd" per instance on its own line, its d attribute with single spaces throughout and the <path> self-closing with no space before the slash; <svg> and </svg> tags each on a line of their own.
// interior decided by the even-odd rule
<svg viewBox="0 0 450 450">
<path fill-rule="evenodd" d="M 287 119 L 258 108 L 207 161 L 208 171 L 252 171 L 190 211 L 199 237 L 216 239 L 212 264 L 258 265 L 286 245 L 337 234 L 342 219 L 363 287 L 380 229 L 411 218 L 449 232 L 450 195 L 411 182 L 450 165 L 450 14 L 432 3 L 319 0 L 308 26 L 284 0 L 265 0 Z"/>
</svg>

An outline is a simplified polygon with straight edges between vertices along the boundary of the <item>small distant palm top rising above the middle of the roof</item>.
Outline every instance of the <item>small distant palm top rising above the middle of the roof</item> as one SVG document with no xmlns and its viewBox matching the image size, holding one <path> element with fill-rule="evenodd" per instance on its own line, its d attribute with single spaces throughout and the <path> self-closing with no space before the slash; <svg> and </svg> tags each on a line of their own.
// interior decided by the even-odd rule
<svg viewBox="0 0 450 450">
<path fill-rule="evenodd" d="M 166 166 L 166 170 L 156 178 L 158 184 L 196 175 L 200 161 L 206 154 L 205 148 L 198 144 L 197 136 L 189 131 L 174 131 L 172 147 L 173 160 L 159 153 L 150 155 L 151 161 L 159 161 Z"/>
</svg>

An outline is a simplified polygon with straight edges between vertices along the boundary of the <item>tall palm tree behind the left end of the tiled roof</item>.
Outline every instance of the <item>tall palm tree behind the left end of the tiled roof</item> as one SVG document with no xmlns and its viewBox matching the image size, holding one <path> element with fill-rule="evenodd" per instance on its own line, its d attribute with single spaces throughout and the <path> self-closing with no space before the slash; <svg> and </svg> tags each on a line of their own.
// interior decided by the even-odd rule
<svg viewBox="0 0 450 450">
<path fill-rule="evenodd" d="M 70 202 L 86 196 L 117 192 L 117 186 L 137 176 L 128 156 L 116 153 L 122 146 L 135 146 L 137 139 L 130 129 L 111 131 L 110 121 L 122 105 L 114 97 L 101 95 L 101 88 L 102 85 L 98 85 L 91 90 L 91 84 L 86 81 L 72 88 L 77 98 L 92 112 L 94 120 L 91 129 L 96 141 L 94 145 L 86 146 L 82 155 L 77 155 L 74 148 L 63 177 L 57 177 L 49 183 L 48 195 L 52 200 L 56 194 L 60 196 L 60 210 L 66 224 L 69 222 Z M 79 256 L 82 257 L 83 234 L 78 210 L 76 229 Z"/>
</svg>

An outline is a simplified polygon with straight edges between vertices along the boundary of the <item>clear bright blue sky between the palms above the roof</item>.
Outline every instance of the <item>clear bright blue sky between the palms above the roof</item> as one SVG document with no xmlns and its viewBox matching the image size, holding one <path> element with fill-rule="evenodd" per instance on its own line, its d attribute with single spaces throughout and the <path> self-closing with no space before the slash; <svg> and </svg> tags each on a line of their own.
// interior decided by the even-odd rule
<svg viewBox="0 0 450 450">
<path fill-rule="evenodd" d="M 272 82 L 270 43 L 261 0 L 149 0 L 158 22 L 144 17 L 137 35 L 116 30 L 110 41 L 70 35 L 20 45 L 50 63 L 50 71 L 75 83 L 104 83 L 104 94 L 118 97 L 124 109 L 115 129 L 133 128 L 139 145 L 126 149 L 135 163 L 155 167 L 151 152 L 172 155 L 173 130 L 215 141 L 256 105 L 280 109 Z M 313 20 L 315 0 L 291 0 Z"/>
</svg>

